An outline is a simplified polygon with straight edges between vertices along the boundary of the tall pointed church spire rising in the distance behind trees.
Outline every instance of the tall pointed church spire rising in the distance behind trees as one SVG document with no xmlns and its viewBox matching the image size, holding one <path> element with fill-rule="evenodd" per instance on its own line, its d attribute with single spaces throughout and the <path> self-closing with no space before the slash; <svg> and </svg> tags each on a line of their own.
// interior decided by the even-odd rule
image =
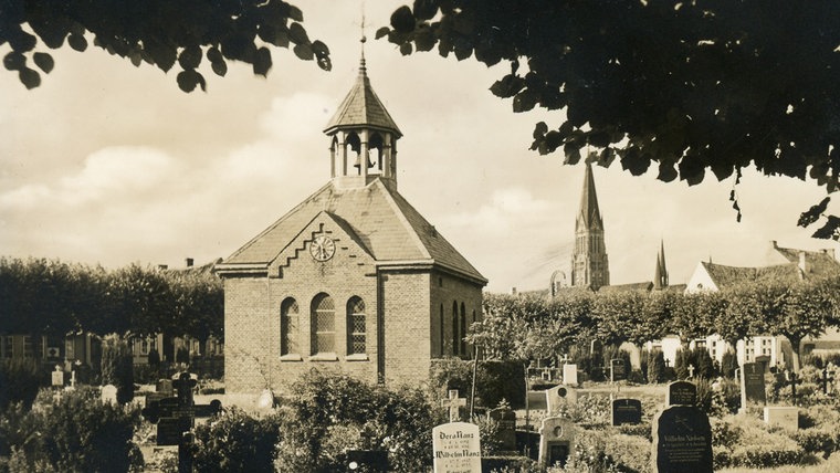
<svg viewBox="0 0 840 473">
<path fill-rule="evenodd" d="M 592 165 L 586 164 L 580 211 L 575 221 L 575 252 L 571 256 L 571 285 L 597 291 L 610 284 L 607 246 L 603 242 L 603 219 L 595 192 Z"/>
</svg>

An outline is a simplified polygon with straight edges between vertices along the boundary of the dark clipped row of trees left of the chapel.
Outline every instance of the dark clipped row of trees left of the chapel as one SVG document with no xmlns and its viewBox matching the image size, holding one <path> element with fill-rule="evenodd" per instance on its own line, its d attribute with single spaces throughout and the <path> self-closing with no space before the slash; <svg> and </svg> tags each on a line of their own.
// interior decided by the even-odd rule
<svg viewBox="0 0 840 473">
<path fill-rule="evenodd" d="M 222 337 L 219 277 L 204 271 L 0 259 L 0 333 Z"/>
</svg>

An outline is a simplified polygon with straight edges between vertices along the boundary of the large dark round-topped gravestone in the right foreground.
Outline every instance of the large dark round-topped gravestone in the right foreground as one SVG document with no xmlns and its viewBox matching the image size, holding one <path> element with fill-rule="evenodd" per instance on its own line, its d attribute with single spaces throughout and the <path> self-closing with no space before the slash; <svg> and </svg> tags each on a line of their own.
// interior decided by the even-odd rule
<svg viewBox="0 0 840 473">
<path fill-rule="evenodd" d="M 712 427 L 693 406 L 671 406 L 653 418 L 652 465 L 658 473 L 712 473 Z"/>
</svg>

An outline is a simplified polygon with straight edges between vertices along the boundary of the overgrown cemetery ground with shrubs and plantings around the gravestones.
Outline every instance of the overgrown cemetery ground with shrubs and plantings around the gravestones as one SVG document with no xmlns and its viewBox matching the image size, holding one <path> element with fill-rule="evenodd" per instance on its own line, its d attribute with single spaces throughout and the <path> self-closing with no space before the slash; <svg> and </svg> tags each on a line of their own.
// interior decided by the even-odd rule
<svg viewBox="0 0 840 473">
<path fill-rule="evenodd" d="M 748 406 L 738 413 L 743 389 L 737 380 L 717 381 L 715 388 L 713 382 L 694 380 L 695 404 L 710 419 L 714 471 L 840 471 L 840 402 L 823 393 L 818 369 L 806 366 L 800 375 L 795 425 L 768 424 L 760 406 Z M 672 402 L 681 402 L 678 398 L 682 395 L 673 386 L 584 381 L 563 387 L 565 397 L 548 401 L 552 412 L 514 406 L 517 432 L 513 448 L 504 444 L 500 422 L 491 420 L 492 410 L 476 404 L 473 422 L 479 427 L 484 471 L 655 471 L 651 425 L 669 396 Z M 63 386 L 42 389 L 30 409 L 15 403 L 3 407 L 0 472 L 178 471 L 179 448 L 158 445 L 158 428 L 141 413 L 148 396 L 154 398 L 159 388 L 140 385 L 134 400 L 119 406 L 103 400 L 98 387 L 80 385 L 67 390 Z M 768 404 L 792 406 L 792 389 L 784 379 L 766 374 L 764 388 Z M 196 404 L 218 399 L 224 409 L 218 416 L 196 419 L 190 451 L 199 472 L 353 471 L 349 463 L 358 452 L 386 452 L 387 471 L 431 472 L 432 429 L 450 420 L 450 410 L 441 404 L 449 402 L 445 390 L 368 386 L 318 372 L 277 398 L 275 407 L 271 407 L 274 399 L 266 403 L 256 395 L 225 395 L 220 380 L 202 379 L 193 392 Z M 468 389 L 461 387 L 460 392 L 456 397 L 468 398 Z M 476 393 L 492 398 L 490 392 Z M 613 425 L 610 396 L 638 400 L 638 422 L 631 416 L 629 423 Z M 470 406 L 464 403 L 454 412 L 466 421 Z M 561 433 L 555 430 L 555 437 L 574 439 L 563 452 L 563 467 L 544 467 L 539 464 L 539 434 L 545 439 L 550 433 L 540 428 L 547 419 L 557 418 L 563 419 L 557 423 L 563 429 Z M 529 456 L 523 454 L 527 439 Z"/>
</svg>

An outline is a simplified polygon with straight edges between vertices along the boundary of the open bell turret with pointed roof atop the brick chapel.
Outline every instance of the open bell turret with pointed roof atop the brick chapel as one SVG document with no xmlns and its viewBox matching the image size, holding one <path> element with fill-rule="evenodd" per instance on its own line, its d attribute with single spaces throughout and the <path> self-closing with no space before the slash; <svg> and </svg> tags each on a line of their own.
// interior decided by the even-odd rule
<svg viewBox="0 0 840 473">
<path fill-rule="evenodd" d="M 361 36 L 359 75 L 324 128 L 330 138 L 330 178 L 336 188 L 367 186 L 379 178 L 397 189 L 397 140 L 402 133 L 374 92 L 365 65 Z"/>
</svg>

